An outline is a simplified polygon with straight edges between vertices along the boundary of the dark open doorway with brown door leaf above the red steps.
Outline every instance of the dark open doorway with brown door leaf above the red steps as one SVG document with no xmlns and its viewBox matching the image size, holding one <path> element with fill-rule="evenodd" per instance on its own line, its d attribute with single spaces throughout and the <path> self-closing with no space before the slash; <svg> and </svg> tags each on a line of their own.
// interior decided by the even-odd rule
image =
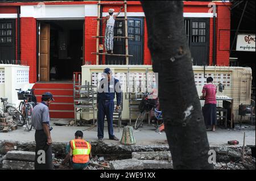
<svg viewBox="0 0 256 181">
<path fill-rule="evenodd" d="M 38 81 L 72 81 L 84 60 L 84 20 L 40 20 L 38 26 Z"/>
</svg>

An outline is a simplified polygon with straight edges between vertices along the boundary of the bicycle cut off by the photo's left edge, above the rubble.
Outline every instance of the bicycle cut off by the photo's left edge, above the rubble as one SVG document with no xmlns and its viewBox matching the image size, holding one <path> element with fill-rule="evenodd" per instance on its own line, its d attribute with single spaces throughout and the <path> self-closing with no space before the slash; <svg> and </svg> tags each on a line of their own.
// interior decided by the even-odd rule
<svg viewBox="0 0 256 181">
<path fill-rule="evenodd" d="M 1 113 L 9 113 L 10 116 L 13 116 L 13 121 L 16 125 L 22 127 L 25 124 L 25 119 L 22 116 L 22 113 L 17 110 L 14 106 L 7 102 L 8 98 L 1 98 L 3 103 L 2 108 L 0 108 Z"/>
</svg>

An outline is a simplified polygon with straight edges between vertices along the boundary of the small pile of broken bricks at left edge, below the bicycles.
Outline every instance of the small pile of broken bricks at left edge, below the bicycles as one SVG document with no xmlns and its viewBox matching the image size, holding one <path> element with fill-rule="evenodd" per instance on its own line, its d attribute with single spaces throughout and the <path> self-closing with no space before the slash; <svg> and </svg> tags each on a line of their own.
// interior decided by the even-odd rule
<svg viewBox="0 0 256 181">
<path fill-rule="evenodd" d="M 18 125 L 14 123 L 13 116 L 10 116 L 9 113 L 0 113 L 0 132 L 7 133 L 16 129 L 18 129 Z"/>
</svg>

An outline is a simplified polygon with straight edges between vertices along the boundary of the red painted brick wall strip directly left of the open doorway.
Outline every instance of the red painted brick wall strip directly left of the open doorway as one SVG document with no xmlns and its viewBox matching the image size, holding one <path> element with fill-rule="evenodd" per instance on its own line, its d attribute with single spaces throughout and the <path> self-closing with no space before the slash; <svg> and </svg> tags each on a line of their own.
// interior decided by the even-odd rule
<svg viewBox="0 0 256 181">
<path fill-rule="evenodd" d="M 30 66 L 30 83 L 36 82 L 36 19 L 20 18 L 20 57 Z"/>
</svg>

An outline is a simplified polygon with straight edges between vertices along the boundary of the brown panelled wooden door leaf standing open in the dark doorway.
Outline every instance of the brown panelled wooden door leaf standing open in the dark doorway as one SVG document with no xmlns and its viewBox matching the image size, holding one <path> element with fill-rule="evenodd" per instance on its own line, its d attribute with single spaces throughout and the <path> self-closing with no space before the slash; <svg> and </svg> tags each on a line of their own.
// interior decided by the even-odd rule
<svg viewBox="0 0 256 181">
<path fill-rule="evenodd" d="M 40 24 L 39 81 L 49 81 L 50 25 Z"/>
</svg>

